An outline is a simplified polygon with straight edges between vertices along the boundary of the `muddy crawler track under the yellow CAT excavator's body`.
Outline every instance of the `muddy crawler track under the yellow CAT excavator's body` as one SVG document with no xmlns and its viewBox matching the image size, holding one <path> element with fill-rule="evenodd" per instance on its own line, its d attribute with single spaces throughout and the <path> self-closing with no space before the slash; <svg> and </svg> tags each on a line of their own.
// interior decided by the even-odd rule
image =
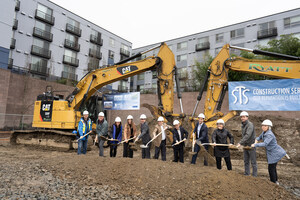
<svg viewBox="0 0 300 200">
<path fill-rule="evenodd" d="M 70 150 L 76 147 L 76 135 L 59 130 L 15 130 L 10 137 L 12 145 L 34 145 Z M 76 144 L 75 144 L 76 143 Z"/>
</svg>

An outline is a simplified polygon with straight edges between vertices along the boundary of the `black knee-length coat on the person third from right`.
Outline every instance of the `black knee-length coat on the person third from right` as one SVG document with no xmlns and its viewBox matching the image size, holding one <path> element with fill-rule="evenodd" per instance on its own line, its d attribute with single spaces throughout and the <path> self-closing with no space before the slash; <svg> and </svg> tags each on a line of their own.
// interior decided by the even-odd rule
<svg viewBox="0 0 300 200">
<path fill-rule="evenodd" d="M 216 144 L 228 144 L 227 138 L 230 139 L 231 144 L 234 144 L 233 136 L 225 128 L 223 128 L 222 130 L 215 129 L 212 134 L 212 142 L 216 143 Z M 215 157 L 230 156 L 228 147 L 222 147 L 222 146 L 215 146 L 214 154 L 215 154 Z"/>
</svg>

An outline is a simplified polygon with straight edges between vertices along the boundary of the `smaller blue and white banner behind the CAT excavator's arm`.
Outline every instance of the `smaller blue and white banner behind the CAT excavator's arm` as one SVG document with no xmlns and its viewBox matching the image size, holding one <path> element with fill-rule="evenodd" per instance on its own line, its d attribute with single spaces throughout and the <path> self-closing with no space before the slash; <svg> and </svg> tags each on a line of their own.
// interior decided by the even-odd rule
<svg viewBox="0 0 300 200">
<path fill-rule="evenodd" d="M 118 93 L 103 95 L 104 110 L 139 110 L 140 93 Z"/>
</svg>

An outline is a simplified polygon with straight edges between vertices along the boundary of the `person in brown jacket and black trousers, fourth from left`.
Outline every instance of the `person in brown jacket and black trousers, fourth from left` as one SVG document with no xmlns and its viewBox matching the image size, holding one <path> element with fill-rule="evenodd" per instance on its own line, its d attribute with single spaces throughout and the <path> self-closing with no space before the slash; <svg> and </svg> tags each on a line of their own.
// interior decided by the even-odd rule
<svg viewBox="0 0 300 200">
<path fill-rule="evenodd" d="M 124 126 L 124 140 L 125 142 L 123 143 L 123 157 L 133 157 L 133 150 L 130 148 L 129 143 L 133 142 L 132 138 L 136 138 L 136 125 L 133 122 L 133 117 L 132 115 L 127 116 L 127 123 Z M 131 139 L 131 140 L 129 140 Z"/>
</svg>

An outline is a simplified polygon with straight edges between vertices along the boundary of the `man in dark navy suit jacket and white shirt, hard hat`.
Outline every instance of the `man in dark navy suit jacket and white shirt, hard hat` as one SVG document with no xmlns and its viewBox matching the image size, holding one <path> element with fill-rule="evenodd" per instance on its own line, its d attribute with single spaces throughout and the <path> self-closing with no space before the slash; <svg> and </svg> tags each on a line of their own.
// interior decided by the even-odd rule
<svg viewBox="0 0 300 200">
<path fill-rule="evenodd" d="M 202 143 L 208 143 L 208 128 L 206 126 L 206 124 L 204 123 L 204 119 L 205 119 L 205 115 L 203 113 L 200 113 L 198 115 L 198 122 L 195 126 L 195 129 L 194 129 L 194 133 L 196 135 L 196 141 L 199 141 L 201 144 Z M 196 142 L 195 141 L 195 142 Z M 200 146 L 195 143 L 195 146 L 194 146 L 194 152 L 196 152 L 195 155 L 193 155 L 192 157 L 192 162 L 191 164 L 196 164 L 196 159 L 198 157 L 198 153 L 200 151 Z M 204 146 L 205 150 L 207 151 L 208 150 L 208 146 Z M 207 163 L 207 156 L 205 155 L 204 156 L 204 165 L 207 166 L 208 163 Z"/>
</svg>

